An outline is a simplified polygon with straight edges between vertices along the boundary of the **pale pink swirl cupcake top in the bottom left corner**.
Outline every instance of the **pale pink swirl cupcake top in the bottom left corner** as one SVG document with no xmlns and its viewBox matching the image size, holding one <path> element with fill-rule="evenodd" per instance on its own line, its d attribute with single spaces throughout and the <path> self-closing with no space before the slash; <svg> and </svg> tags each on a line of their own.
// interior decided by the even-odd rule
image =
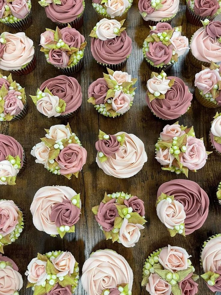
<svg viewBox="0 0 221 295">
<path fill-rule="evenodd" d="M 23 286 L 22 275 L 13 260 L 0 254 L 0 293 L 18 294 Z"/>
</svg>

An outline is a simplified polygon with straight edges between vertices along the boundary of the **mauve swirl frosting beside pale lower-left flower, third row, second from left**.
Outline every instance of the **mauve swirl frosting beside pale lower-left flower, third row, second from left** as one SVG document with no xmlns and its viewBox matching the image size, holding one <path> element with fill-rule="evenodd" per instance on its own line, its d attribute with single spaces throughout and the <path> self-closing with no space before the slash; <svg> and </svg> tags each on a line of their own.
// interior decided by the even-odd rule
<svg viewBox="0 0 221 295">
<path fill-rule="evenodd" d="M 65 111 L 60 115 L 66 115 L 76 111 L 82 103 L 82 91 L 80 84 L 73 77 L 60 75 L 43 82 L 40 90 L 44 91 L 47 87 L 51 93 L 64 100 L 66 103 Z"/>
</svg>

